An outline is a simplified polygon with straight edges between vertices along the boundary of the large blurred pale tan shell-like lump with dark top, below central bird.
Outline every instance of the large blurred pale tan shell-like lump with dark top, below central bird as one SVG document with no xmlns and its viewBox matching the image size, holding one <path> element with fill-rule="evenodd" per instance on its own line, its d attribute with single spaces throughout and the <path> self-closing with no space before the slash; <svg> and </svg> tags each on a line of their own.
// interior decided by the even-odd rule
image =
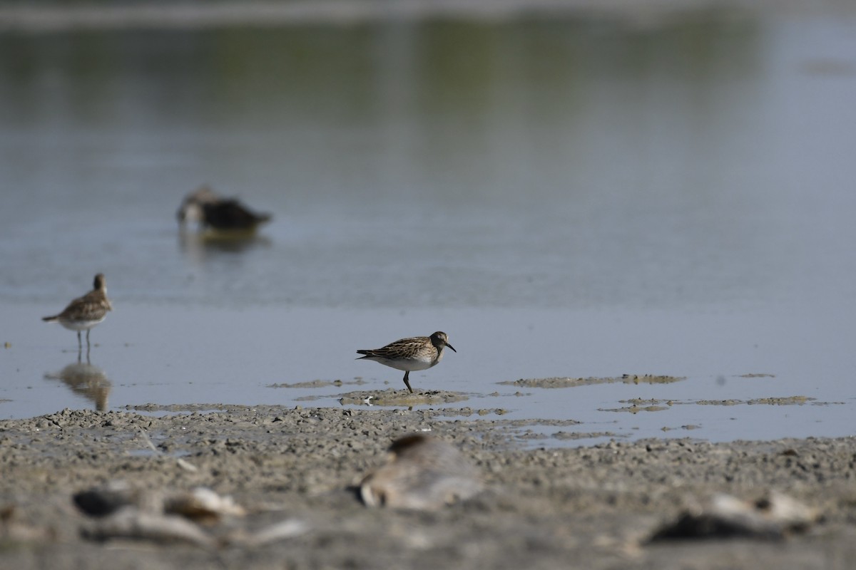
<svg viewBox="0 0 856 570">
<path fill-rule="evenodd" d="M 395 440 L 386 465 L 360 483 L 360 496 L 369 507 L 436 509 L 481 488 L 478 470 L 453 445 L 416 434 Z"/>
</svg>

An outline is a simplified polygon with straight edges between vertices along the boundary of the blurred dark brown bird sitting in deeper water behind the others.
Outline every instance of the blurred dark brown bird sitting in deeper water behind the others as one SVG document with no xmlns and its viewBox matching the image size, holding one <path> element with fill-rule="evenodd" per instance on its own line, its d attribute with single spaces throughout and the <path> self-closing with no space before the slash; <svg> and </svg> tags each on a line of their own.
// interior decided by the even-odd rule
<svg viewBox="0 0 856 570">
<path fill-rule="evenodd" d="M 253 212 L 236 198 L 220 197 L 207 185 L 187 194 L 176 216 L 181 224 L 195 222 L 218 232 L 252 232 L 270 221 L 270 214 Z"/>
</svg>

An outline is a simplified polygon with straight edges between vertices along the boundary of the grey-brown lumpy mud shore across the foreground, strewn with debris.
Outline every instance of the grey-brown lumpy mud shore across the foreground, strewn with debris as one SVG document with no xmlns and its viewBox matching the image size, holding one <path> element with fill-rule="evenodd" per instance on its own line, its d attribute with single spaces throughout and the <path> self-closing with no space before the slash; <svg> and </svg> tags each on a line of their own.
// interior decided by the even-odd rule
<svg viewBox="0 0 856 570">
<path fill-rule="evenodd" d="M 856 438 L 532 450 L 502 419 L 449 410 L 169 411 L 0 422 L 0 566 L 845 568 L 856 557 Z M 366 507 L 356 485 L 394 439 L 413 433 L 461 450 L 484 490 L 436 510 Z M 148 492 L 204 486 L 244 514 L 200 523 L 205 544 L 104 536 L 73 497 L 111 481 Z M 717 493 L 755 502 L 769 491 L 811 519 L 728 538 L 716 528 L 701 538 L 669 531 Z M 283 523 L 296 530 L 259 538 Z"/>
</svg>

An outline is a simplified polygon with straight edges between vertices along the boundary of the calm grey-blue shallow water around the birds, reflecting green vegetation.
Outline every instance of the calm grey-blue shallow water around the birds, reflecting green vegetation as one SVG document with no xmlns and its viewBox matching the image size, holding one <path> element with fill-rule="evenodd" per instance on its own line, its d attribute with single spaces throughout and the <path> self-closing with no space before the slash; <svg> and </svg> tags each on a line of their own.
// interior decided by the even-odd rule
<svg viewBox="0 0 856 570">
<path fill-rule="evenodd" d="M 851 16 L 0 35 L 0 417 L 337 406 L 403 388 L 354 350 L 443 330 L 414 387 L 583 422 L 548 436 L 852 433 Z M 203 182 L 274 221 L 178 232 Z M 63 382 L 39 317 L 98 271 L 109 386 Z M 622 373 L 686 380 L 497 384 Z"/>
</svg>

